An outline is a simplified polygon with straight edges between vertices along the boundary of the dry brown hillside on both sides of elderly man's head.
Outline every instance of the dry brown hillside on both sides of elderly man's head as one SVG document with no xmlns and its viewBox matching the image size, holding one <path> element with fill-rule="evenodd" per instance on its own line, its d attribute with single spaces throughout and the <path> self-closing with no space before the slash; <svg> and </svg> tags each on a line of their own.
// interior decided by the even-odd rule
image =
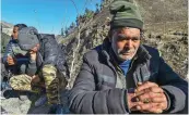
<svg viewBox="0 0 189 115">
<path fill-rule="evenodd" d="M 184 78 L 187 77 L 188 1 L 135 0 L 135 3 L 139 5 L 144 21 L 144 39 L 142 39 L 142 42 L 157 48 L 176 73 Z M 90 49 L 101 44 L 106 37 L 109 29 L 106 25 L 107 17 L 111 17 L 108 7 L 104 8 L 93 18 L 86 21 L 87 23 L 81 25 L 83 28 L 80 35 L 75 30 L 63 39 L 62 42 L 67 44 L 71 69 L 70 88 L 80 71 L 82 55 Z"/>
</svg>

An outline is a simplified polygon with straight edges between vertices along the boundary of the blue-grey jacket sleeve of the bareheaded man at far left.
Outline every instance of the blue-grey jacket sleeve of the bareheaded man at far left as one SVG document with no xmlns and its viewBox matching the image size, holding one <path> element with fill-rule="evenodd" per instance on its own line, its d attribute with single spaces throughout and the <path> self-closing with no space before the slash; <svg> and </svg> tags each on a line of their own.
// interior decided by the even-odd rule
<svg viewBox="0 0 189 115">
<path fill-rule="evenodd" d="M 10 40 L 9 43 L 7 44 L 5 52 L 4 52 L 3 58 L 2 58 L 2 62 L 4 64 L 7 64 L 8 54 L 13 55 L 13 51 L 12 51 L 11 47 L 12 47 L 12 40 Z"/>
</svg>

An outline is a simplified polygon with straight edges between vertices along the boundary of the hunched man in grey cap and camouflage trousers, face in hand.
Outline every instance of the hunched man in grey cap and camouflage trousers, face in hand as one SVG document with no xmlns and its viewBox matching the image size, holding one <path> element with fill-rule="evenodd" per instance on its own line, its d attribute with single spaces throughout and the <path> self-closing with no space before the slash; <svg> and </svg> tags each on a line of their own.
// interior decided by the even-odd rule
<svg viewBox="0 0 189 115">
<path fill-rule="evenodd" d="M 66 58 L 54 35 L 38 34 L 34 27 L 19 31 L 19 46 L 29 54 L 31 74 L 10 79 L 14 90 L 34 91 L 34 86 L 45 87 L 47 101 L 55 113 L 62 113 L 60 93 L 67 86 Z M 51 113 L 51 112 L 50 112 Z"/>
</svg>

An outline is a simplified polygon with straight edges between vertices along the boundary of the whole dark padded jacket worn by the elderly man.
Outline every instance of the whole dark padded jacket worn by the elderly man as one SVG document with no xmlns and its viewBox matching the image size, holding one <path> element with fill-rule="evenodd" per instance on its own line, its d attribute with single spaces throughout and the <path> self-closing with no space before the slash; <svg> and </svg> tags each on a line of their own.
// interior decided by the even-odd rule
<svg viewBox="0 0 189 115">
<path fill-rule="evenodd" d="M 110 43 L 105 40 L 83 56 L 81 72 L 70 92 L 70 111 L 80 114 L 132 113 L 127 104 L 127 87 L 116 88 L 117 69 L 109 55 Z M 188 82 L 181 79 L 160 56 L 158 51 L 141 46 L 132 60 L 126 78 L 137 82 L 160 85 L 168 99 L 166 113 L 182 111 L 188 104 Z M 126 85 L 127 86 L 127 85 Z"/>
</svg>

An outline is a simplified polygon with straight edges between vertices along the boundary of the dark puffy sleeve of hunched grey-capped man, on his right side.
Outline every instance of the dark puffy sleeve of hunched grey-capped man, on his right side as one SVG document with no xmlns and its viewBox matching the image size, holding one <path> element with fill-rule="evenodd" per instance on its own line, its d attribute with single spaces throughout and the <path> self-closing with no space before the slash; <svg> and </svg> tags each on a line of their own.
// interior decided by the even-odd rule
<svg viewBox="0 0 189 115">
<path fill-rule="evenodd" d="M 69 71 L 66 62 L 66 55 L 62 53 L 62 49 L 59 47 L 55 37 L 46 35 L 43 41 L 43 66 L 52 65 L 60 72 L 63 77 L 69 77 Z"/>
</svg>

